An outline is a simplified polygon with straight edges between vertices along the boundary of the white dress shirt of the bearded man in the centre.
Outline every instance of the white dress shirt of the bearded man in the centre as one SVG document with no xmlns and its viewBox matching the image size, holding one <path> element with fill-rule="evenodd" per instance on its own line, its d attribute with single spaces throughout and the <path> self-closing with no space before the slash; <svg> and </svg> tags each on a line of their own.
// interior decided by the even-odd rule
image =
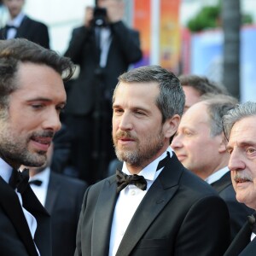
<svg viewBox="0 0 256 256">
<path fill-rule="evenodd" d="M 172 157 L 172 149 L 169 147 L 166 152 L 167 151 L 170 153 L 170 157 Z M 125 230 L 127 229 L 131 218 L 134 215 L 134 212 L 136 212 L 137 207 L 141 201 L 143 201 L 143 197 L 147 194 L 148 189 L 154 183 L 154 180 L 160 175 L 160 172 L 163 168 L 161 168 L 158 172 L 156 172 L 156 168 L 160 160 L 166 157 L 166 152 L 161 154 L 159 158 L 154 160 L 138 173 L 138 175 L 145 177 L 147 181 L 146 190 L 138 189 L 136 185 L 130 184 L 125 187 L 125 189 L 120 191 L 119 198 L 116 202 L 113 212 L 113 222 L 109 243 L 109 256 L 116 254 L 119 248 L 119 244 L 125 235 Z M 125 163 L 123 165 L 122 172 L 131 175 Z"/>
</svg>

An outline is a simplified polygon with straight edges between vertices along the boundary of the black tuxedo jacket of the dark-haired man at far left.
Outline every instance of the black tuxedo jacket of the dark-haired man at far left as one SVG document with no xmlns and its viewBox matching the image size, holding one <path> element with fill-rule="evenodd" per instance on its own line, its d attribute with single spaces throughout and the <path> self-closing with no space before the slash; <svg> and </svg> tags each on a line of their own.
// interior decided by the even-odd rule
<svg viewBox="0 0 256 256">
<path fill-rule="evenodd" d="M 27 186 L 23 207 L 37 219 L 35 243 L 41 256 L 51 255 L 49 213 Z M 26 218 L 15 190 L 0 177 L 0 254 L 1 256 L 38 256 Z"/>
</svg>

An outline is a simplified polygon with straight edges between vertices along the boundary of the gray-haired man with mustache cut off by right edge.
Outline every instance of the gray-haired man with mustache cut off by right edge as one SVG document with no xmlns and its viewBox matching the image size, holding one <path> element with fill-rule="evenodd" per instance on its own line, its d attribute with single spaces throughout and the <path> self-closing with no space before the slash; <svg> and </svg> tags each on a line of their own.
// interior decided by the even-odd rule
<svg viewBox="0 0 256 256">
<path fill-rule="evenodd" d="M 229 168 L 237 201 L 256 210 L 256 103 L 245 102 L 224 115 Z M 256 255 L 255 213 L 241 228 L 224 256 Z"/>
</svg>

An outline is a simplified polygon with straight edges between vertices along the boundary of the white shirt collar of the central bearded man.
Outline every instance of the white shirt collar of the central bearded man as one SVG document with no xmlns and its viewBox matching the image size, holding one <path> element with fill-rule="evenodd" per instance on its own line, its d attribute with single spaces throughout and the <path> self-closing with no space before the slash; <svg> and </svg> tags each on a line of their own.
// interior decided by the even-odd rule
<svg viewBox="0 0 256 256">
<path fill-rule="evenodd" d="M 138 175 L 142 175 L 147 180 L 154 181 L 154 179 L 158 176 L 158 174 L 161 171 L 160 170 L 160 171 L 156 172 L 156 168 L 157 168 L 160 160 L 162 160 L 166 157 L 167 151 L 170 153 L 170 158 L 171 158 L 172 157 L 172 148 L 168 147 L 166 149 L 166 151 L 160 155 L 160 157 L 158 157 L 153 162 L 151 162 L 148 166 L 143 168 L 143 170 L 141 172 L 139 172 Z M 131 173 L 128 171 L 128 169 L 126 167 L 126 163 L 124 163 L 124 165 L 123 165 L 122 172 L 125 172 L 128 175 L 131 175 Z"/>
</svg>

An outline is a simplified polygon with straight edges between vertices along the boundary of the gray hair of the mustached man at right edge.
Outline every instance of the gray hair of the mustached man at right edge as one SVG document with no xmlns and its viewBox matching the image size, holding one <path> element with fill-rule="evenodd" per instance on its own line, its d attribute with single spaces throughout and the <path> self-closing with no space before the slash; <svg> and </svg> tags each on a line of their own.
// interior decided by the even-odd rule
<svg viewBox="0 0 256 256">
<path fill-rule="evenodd" d="M 231 109 L 223 117 L 225 137 L 230 138 L 230 131 L 237 121 L 253 115 L 256 115 L 256 102 L 245 102 L 236 105 L 236 108 Z"/>
</svg>

